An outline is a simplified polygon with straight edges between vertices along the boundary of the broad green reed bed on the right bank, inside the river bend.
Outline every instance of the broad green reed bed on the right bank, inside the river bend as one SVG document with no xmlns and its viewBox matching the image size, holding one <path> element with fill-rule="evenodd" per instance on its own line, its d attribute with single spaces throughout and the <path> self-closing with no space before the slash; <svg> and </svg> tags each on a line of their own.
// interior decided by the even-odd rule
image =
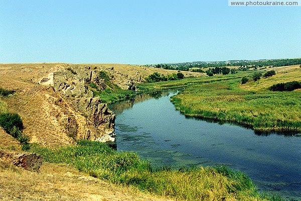
<svg viewBox="0 0 301 201">
<path fill-rule="evenodd" d="M 301 93 L 256 92 L 223 81 L 187 87 L 172 97 L 176 108 L 188 116 L 233 121 L 256 130 L 300 130 Z"/>
</svg>

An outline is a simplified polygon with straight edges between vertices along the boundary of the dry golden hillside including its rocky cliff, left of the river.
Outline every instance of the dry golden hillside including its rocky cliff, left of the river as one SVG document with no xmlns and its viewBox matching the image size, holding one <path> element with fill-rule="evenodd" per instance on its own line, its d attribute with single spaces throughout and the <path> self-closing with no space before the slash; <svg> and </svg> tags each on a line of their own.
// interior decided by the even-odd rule
<svg viewBox="0 0 301 201">
<path fill-rule="evenodd" d="M 115 115 L 94 97 L 89 83 L 104 90 L 105 71 L 121 89 L 134 89 L 148 75 L 177 71 L 121 64 L 0 64 L 0 87 L 14 90 L 1 98 L 10 112 L 18 113 L 31 143 L 74 144 L 75 139 L 114 140 Z M 185 77 L 199 73 L 183 72 Z"/>
</svg>

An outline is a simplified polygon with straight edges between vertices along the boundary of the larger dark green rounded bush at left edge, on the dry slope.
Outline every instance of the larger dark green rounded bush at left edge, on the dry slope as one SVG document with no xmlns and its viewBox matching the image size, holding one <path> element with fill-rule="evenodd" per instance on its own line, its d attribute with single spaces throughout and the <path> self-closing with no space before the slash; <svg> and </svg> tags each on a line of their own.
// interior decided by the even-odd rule
<svg viewBox="0 0 301 201">
<path fill-rule="evenodd" d="M 0 126 L 9 134 L 14 126 L 20 131 L 23 129 L 23 122 L 17 113 L 2 113 L 0 114 Z"/>
</svg>

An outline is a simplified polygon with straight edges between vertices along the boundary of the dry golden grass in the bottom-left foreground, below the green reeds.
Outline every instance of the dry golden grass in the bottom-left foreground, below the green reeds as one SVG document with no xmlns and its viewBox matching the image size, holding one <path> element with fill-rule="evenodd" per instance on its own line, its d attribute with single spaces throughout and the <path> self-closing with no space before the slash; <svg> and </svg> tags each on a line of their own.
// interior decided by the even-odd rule
<svg viewBox="0 0 301 201">
<path fill-rule="evenodd" d="M 2 200 L 169 200 L 109 184 L 68 165 L 43 163 L 39 173 L 0 165 Z"/>
</svg>

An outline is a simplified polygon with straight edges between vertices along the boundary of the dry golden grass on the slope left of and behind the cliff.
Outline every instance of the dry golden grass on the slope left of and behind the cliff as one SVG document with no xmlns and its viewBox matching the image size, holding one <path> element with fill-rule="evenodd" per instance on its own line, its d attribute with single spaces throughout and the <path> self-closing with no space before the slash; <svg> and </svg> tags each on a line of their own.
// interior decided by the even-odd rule
<svg viewBox="0 0 301 201">
<path fill-rule="evenodd" d="M 37 84 L 57 70 L 63 70 L 72 64 L 40 63 L 40 64 L 0 64 L 0 87 L 15 90 L 9 98 L 0 99 L 0 109 L 18 113 L 25 129 L 23 133 L 30 136 L 31 143 L 43 145 L 73 144 L 64 128 L 58 123 L 57 116 L 64 112 L 59 110 L 49 97 L 60 98 L 60 94 Z M 161 74 L 172 74 L 177 71 L 148 68 L 122 64 L 83 64 L 92 70 L 105 70 L 113 76 L 113 82 L 126 86 L 129 80 L 143 81 L 143 78 L 157 71 Z M 183 72 L 185 76 L 197 76 L 198 73 Z M 68 110 L 68 108 L 63 108 Z"/>
</svg>

